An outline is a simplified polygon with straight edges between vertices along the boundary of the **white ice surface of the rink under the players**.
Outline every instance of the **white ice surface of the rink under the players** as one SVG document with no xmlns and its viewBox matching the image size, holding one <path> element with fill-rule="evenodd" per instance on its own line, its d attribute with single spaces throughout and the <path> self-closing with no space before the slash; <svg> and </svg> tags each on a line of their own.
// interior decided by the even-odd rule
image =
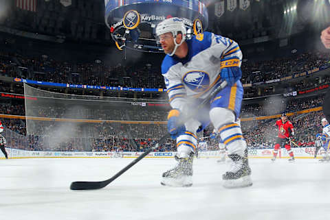
<svg viewBox="0 0 330 220">
<path fill-rule="evenodd" d="M 110 178 L 133 159 L 0 160 L 0 219 L 23 220 L 305 220 L 330 219 L 330 163 L 250 160 L 250 188 L 226 189 L 229 164 L 197 159 L 193 185 L 159 184 L 174 159 L 144 158 L 96 191 L 70 191 L 74 181 Z"/>
</svg>

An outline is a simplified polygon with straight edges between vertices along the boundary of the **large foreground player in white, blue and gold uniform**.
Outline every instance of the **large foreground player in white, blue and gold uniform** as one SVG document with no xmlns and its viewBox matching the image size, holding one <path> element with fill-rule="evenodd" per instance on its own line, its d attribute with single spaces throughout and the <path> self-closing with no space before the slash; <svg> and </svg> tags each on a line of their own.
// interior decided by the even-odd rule
<svg viewBox="0 0 330 220">
<path fill-rule="evenodd" d="M 233 40 L 203 32 L 186 40 L 186 27 L 179 18 L 162 21 L 156 27 L 162 49 L 167 54 L 162 62 L 170 106 L 168 132 L 177 140 L 177 165 L 162 175 L 167 186 L 192 185 L 192 160 L 197 145 L 196 134 L 212 122 L 232 159 L 229 171 L 223 174 L 223 186 L 251 186 L 248 150 L 239 117 L 243 86 L 241 85 L 242 53 Z M 180 125 L 178 121 L 225 80 L 228 85 L 206 106 L 206 112 Z M 206 120 L 208 119 L 208 120 Z"/>
</svg>

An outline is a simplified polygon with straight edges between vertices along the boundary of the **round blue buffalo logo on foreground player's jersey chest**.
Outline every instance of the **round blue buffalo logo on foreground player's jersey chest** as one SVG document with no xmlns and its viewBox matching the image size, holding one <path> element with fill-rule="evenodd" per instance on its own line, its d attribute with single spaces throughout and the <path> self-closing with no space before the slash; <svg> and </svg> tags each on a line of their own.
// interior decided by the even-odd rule
<svg viewBox="0 0 330 220">
<path fill-rule="evenodd" d="M 190 71 L 184 75 L 184 84 L 191 90 L 200 93 L 210 86 L 210 77 L 203 71 Z"/>
</svg>

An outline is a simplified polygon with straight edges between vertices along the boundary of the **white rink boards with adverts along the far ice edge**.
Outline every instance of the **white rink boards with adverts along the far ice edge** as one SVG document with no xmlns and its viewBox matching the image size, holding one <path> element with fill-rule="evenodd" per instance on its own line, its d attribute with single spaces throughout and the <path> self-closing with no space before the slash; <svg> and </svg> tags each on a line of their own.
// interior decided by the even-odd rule
<svg viewBox="0 0 330 220">
<path fill-rule="evenodd" d="M 295 158 L 314 158 L 315 147 L 292 148 Z M 137 158 L 144 152 L 92 152 L 92 151 L 26 151 L 22 149 L 6 148 L 9 158 Z M 249 158 L 272 158 L 272 149 L 249 149 Z M 323 154 L 321 149 L 318 152 L 318 158 Z M 151 152 L 146 158 L 173 158 L 175 152 Z M 199 151 L 199 158 L 219 158 L 219 151 Z M 1 155 L 1 159 L 4 156 Z M 285 149 L 278 152 L 278 158 L 289 158 Z"/>
</svg>

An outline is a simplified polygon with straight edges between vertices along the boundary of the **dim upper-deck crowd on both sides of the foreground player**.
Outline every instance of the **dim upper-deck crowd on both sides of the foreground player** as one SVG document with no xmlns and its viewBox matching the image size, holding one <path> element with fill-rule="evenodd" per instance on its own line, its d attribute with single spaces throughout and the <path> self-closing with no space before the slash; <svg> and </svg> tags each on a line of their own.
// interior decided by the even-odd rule
<svg viewBox="0 0 330 220">
<path fill-rule="evenodd" d="M 329 64 L 329 53 L 302 53 L 277 60 L 243 62 L 243 84 L 311 71 Z M 159 66 L 144 63 L 107 66 L 100 60 L 93 63 L 59 62 L 43 54 L 40 57 L 23 57 L 17 53 L 0 53 L 0 74 L 23 77 L 29 80 L 64 84 L 88 84 L 91 86 L 122 86 L 133 88 L 164 88 Z M 265 91 L 266 93 L 268 91 Z"/>
</svg>

